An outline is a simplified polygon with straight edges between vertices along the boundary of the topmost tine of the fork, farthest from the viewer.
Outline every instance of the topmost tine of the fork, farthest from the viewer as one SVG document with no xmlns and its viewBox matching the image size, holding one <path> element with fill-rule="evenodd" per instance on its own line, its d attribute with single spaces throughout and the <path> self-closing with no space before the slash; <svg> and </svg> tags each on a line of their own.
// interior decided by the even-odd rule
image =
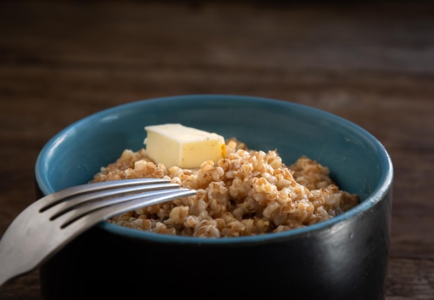
<svg viewBox="0 0 434 300">
<path fill-rule="evenodd" d="M 56 191 L 53 194 L 49 194 L 44 196 L 43 198 L 40 198 L 40 200 L 38 201 L 40 202 L 40 211 L 43 212 L 44 210 L 49 209 L 53 205 L 67 200 L 72 196 L 77 196 L 80 194 L 87 194 L 89 192 L 99 191 L 103 189 L 114 189 L 118 187 L 128 187 L 134 185 L 153 185 L 168 182 L 170 182 L 170 180 L 164 178 L 131 178 L 123 180 L 91 182 Z"/>
</svg>

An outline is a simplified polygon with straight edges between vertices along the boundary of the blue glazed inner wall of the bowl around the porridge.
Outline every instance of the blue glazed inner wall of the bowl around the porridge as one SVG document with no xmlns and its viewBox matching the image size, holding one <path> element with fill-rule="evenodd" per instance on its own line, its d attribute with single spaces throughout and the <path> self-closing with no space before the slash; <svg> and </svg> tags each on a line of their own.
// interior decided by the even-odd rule
<svg viewBox="0 0 434 300">
<path fill-rule="evenodd" d="M 144 126 L 164 123 L 181 123 L 225 138 L 236 137 L 252 149 L 277 149 L 287 165 L 300 156 L 308 156 L 329 167 L 341 189 L 356 193 L 363 200 L 363 205 L 330 222 L 283 234 L 327 226 L 360 213 L 381 200 L 392 184 L 388 153 L 360 126 L 308 106 L 236 95 L 142 100 L 90 115 L 46 143 L 35 165 L 37 184 L 44 194 L 50 194 L 88 182 L 102 166 L 119 158 L 124 149 L 137 151 L 144 147 Z M 121 234 L 150 236 L 115 225 L 103 226 Z"/>
</svg>

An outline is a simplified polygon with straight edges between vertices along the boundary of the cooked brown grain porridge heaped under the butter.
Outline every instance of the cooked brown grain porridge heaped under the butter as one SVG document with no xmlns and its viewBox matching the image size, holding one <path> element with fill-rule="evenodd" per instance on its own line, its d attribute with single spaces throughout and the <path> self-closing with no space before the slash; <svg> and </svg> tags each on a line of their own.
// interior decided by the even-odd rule
<svg viewBox="0 0 434 300">
<path fill-rule="evenodd" d="M 328 167 L 306 156 L 286 166 L 277 151 L 252 151 L 235 138 L 226 149 L 218 163 L 208 160 L 195 169 L 156 165 L 146 149 L 123 151 L 92 181 L 168 178 L 198 192 L 108 222 L 180 236 L 249 236 L 326 221 L 359 203 L 329 178 Z"/>
</svg>

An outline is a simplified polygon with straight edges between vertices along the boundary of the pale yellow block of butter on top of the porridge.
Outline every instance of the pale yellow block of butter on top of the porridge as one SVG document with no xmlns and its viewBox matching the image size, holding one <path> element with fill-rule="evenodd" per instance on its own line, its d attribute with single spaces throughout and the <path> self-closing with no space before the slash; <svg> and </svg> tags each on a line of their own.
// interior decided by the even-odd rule
<svg viewBox="0 0 434 300">
<path fill-rule="evenodd" d="M 182 169 L 200 167 L 205 160 L 218 162 L 226 156 L 223 136 L 182 124 L 146 126 L 146 153 L 156 163 Z"/>
</svg>

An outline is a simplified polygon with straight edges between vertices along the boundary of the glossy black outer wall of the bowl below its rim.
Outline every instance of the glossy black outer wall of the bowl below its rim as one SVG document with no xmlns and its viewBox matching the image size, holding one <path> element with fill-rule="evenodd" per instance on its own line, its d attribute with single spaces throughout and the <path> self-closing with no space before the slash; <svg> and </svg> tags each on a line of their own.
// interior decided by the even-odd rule
<svg viewBox="0 0 434 300">
<path fill-rule="evenodd" d="M 385 299 L 391 189 L 367 211 L 269 243 L 168 244 L 100 226 L 40 268 L 42 299 Z"/>
</svg>

